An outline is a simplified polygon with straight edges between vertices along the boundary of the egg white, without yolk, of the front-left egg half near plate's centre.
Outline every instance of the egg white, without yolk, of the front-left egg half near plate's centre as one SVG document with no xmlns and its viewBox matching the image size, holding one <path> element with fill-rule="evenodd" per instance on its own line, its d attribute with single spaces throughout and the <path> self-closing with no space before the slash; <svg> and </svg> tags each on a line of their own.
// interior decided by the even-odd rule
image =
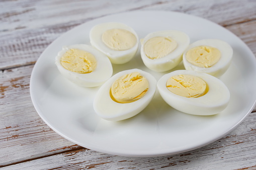
<svg viewBox="0 0 256 170">
<path fill-rule="evenodd" d="M 141 76 L 147 79 L 149 85 L 148 91 L 137 101 L 131 103 L 115 102 L 110 97 L 110 89 L 112 84 L 119 77 L 132 72 L 139 72 Z M 94 110 L 103 119 L 111 121 L 124 120 L 141 112 L 149 104 L 155 94 L 155 91 L 156 80 L 151 74 L 139 69 L 125 70 L 112 76 L 100 87 L 94 99 Z"/>
</svg>

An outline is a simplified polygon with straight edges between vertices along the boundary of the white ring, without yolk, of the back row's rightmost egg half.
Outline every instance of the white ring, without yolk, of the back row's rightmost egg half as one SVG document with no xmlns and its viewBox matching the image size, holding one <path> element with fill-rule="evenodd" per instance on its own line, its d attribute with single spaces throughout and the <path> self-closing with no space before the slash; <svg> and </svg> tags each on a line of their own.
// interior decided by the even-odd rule
<svg viewBox="0 0 256 170">
<path fill-rule="evenodd" d="M 215 63 L 213 66 L 208 68 L 198 67 L 198 66 L 195 66 L 194 64 L 191 64 L 186 59 L 186 54 L 190 49 L 198 46 L 210 46 L 210 47 L 217 48 L 221 53 L 220 60 L 217 63 Z M 233 56 L 233 49 L 228 43 L 218 39 L 204 39 L 204 40 L 199 40 L 192 43 L 186 49 L 186 51 L 183 54 L 183 64 L 186 70 L 194 70 L 197 72 L 207 73 L 215 77 L 220 77 L 227 71 L 231 63 L 232 56 Z"/>
</svg>

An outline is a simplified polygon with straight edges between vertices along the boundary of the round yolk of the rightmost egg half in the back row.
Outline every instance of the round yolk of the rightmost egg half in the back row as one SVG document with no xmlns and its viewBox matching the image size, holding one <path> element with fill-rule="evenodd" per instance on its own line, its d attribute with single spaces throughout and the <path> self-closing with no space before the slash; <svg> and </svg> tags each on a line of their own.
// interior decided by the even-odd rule
<svg viewBox="0 0 256 170">
<path fill-rule="evenodd" d="M 186 54 L 186 59 L 191 64 L 198 67 L 208 68 L 216 64 L 221 57 L 217 48 L 209 46 L 199 46 L 192 48 Z"/>
</svg>

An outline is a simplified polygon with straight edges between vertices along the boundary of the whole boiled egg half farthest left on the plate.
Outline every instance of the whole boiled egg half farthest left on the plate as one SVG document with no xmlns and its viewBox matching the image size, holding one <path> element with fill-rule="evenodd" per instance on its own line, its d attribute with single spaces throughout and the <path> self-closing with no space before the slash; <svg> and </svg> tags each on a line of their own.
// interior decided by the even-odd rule
<svg viewBox="0 0 256 170">
<path fill-rule="evenodd" d="M 84 87 L 100 86 L 113 74 L 108 57 L 85 44 L 63 47 L 55 64 L 64 77 Z"/>
</svg>

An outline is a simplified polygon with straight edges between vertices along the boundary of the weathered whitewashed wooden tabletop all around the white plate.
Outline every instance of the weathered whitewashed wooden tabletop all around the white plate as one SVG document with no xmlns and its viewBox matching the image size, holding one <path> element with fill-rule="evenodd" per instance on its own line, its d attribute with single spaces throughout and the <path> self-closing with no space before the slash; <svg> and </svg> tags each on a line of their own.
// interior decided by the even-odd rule
<svg viewBox="0 0 256 170">
<path fill-rule="evenodd" d="M 256 54 L 256 1 L 1 1 L 0 167 L 3 169 L 256 169 L 256 112 L 204 147 L 159 157 L 123 157 L 76 145 L 37 114 L 29 93 L 34 64 L 66 31 L 127 11 L 176 11 L 211 20 Z"/>
</svg>

